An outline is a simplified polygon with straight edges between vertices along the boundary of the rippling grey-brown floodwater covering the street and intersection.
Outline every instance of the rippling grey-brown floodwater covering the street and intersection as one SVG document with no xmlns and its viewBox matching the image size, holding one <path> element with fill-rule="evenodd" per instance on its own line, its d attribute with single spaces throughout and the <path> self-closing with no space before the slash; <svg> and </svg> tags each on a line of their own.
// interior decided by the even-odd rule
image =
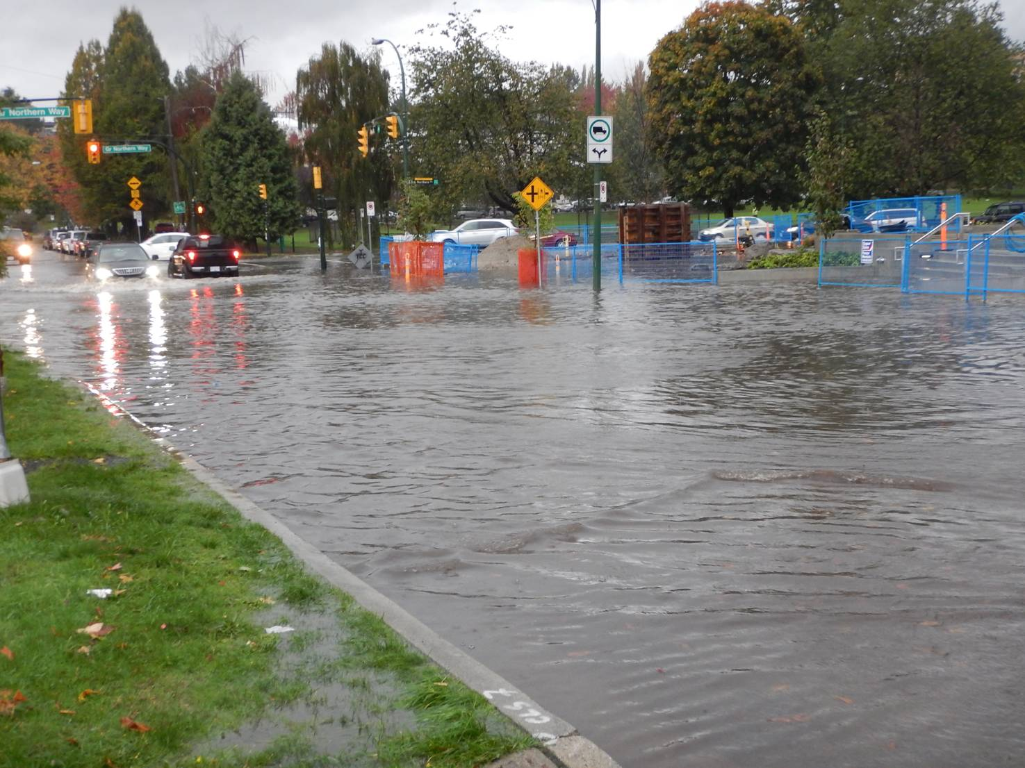
<svg viewBox="0 0 1025 768">
<path fill-rule="evenodd" d="M 1025 764 L 1020 300 L 75 268 L 0 339 L 627 768 Z"/>
</svg>

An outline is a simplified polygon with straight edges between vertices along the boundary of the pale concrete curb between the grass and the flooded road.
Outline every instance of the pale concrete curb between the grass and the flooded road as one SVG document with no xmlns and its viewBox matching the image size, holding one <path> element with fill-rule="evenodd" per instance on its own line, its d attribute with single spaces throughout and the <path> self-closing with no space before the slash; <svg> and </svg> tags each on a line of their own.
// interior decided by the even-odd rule
<svg viewBox="0 0 1025 768">
<path fill-rule="evenodd" d="M 262 525 L 278 537 L 310 570 L 351 595 L 363 608 L 380 616 L 410 645 L 491 701 L 505 717 L 544 744 L 543 751 L 546 757 L 554 761 L 558 768 L 621 768 L 609 755 L 580 736 L 572 725 L 543 709 L 503 677 L 445 640 L 394 600 L 293 534 L 271 513 L 228 486 L 210 470 L 178 451 L 130 412 L 115 403 L 90 384 L 84 381 L 80 381 L 79 384 L 94 395 L 108 412 L 126 417 L 157 445 L 177 459 L 196 479 L 235 507 L 243 517 Z M 529 758 L 533 752 L 536 751 L 518 753 L 502 760 L 510 760 L 518 756 Z M 510 768 L 518 765 L 529 766 L 531 762 L 510 762 L 508 765 Z M 543 763 L 540 765 L 543 766 Z"/>
</svg>

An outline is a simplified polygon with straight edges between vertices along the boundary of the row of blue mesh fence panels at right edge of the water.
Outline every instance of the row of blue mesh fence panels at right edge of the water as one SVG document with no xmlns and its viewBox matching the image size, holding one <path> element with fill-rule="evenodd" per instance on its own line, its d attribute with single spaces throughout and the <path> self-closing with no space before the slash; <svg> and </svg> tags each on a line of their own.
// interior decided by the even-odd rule
<svg viewBox="0 0 1025 768">
<path fill-rule="evenodd" d="M 1025 227 L 1025 215 L 1019 223 Z M 1025 233 L 970 234 L 915 242 L 833 238 L 819 247 L 819 286 L 896 288 L 903 293 L 1025 293 Z"/>
</svg>

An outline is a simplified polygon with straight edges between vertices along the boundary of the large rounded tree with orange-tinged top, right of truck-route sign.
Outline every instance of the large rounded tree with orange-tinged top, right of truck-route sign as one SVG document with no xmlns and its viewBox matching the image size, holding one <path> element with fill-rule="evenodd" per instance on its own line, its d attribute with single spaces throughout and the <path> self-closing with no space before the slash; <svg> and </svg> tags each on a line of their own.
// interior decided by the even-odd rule
<svg viewBox="0 0 1025 768">
<path fill-rule="evenodd" d="M 649 135 L 670 191 L 727 216 L 741 201 L 796 202 L 820 80 L 789 19 L 706 3 L 658 42 L 649 70 Z"/>
</svg>

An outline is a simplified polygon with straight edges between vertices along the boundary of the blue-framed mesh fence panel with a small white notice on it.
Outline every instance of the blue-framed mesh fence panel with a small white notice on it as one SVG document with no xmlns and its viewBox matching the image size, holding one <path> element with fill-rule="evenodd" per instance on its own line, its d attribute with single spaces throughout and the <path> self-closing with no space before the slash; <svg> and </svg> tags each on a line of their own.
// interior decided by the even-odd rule
<svg viewBox="0 0 1025 768">
<path fill-rule="evenodd" d="M 819 247 L 819 285 L 904 288 L 909 238 L 830 238 Z"/>
</svg>

